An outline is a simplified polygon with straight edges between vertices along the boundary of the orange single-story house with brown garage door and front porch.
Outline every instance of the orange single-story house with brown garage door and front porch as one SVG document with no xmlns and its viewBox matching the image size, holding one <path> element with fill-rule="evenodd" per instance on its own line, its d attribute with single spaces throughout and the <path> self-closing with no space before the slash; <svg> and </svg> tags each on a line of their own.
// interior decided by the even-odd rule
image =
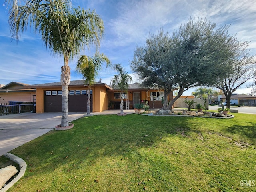
<svg viewBox="0 0 256 192">
<path fill-rule="evenodd" d="M 62 86 L 60 82 L 34 84 L 26 86 L 36 89 L 36 112 L 61 112 L 62 110 Z M 87 111 L 87 91 L 88 85 L 84 80 L 71 81 L 68 95 L 68 112 Z M 161 108 L 163 90 L 143 88 L 141 84 L 129 84 L 129 89 L 124 93 L 124 109 L 131 109 L 134 104 L 148 100 L 150 108 Z M 168 100 L 172 100 L 172 92 L 168 95 Z M 142 101 L 143 100 L 143 101 Z M 91 112 L 102 112 L 109 106 L 120 109 L 121 93 L 114 90 L 112 86 L 94 82 L 91 86 Z"/>
</svg>

